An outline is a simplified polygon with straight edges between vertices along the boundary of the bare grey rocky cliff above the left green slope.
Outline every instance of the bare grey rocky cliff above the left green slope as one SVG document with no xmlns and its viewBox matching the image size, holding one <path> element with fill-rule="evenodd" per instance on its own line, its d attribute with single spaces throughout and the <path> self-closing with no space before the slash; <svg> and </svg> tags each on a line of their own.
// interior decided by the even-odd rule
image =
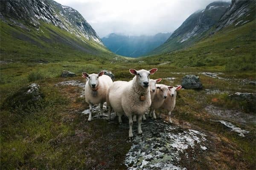
<svg viewBox="0 0 256 170">
<path fill-rule="evenodd" d="M 39 28 L 41 22 L 58 26 L 76 37 L 103 45 L 89 23 L 75 9 L 53 0 L 3 0 L 0 1 L 0 18 L 15 25 L 31 25 Z"/>
</svg>

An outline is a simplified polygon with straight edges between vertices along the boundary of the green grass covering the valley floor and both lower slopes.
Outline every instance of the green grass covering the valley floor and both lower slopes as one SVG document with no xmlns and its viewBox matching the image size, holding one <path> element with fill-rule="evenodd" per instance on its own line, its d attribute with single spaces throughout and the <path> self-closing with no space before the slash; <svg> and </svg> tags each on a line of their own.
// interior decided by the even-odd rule
<svg viewBox="0 0 256 170">
<path fill-rule="evenodd" d="M 250 110 L 250 105 L 233 101 L 226 94 L 208 95 L 204 90 L 255 93 L 255 85 L 238 81 L 256 79 L 255 21 L 224 29 L 180 51 L 139 59 L 119 57 L 96 45 L 83 46 L 73 35 L 47 24 L 42 29 L 45 34 L 35 30 L 26 34 L 23 29 L 1 21 L 0 59 L 13 59 L 12 63 L 0 65 L 1 169 L 125 169 L 123 160 L 131 146 L 127 142 L 128 125 L 119 127 L 103 119 L 87 123 L 87 116 L 81 115 L 81 111 L 88 106 L 80 98 L 79 89 L 54 85 L 71 79 L 84 81 L 81 72 L 101 70 L 110 70 L 116 80 L 126 81 L 133 77 L 129 68 L 158 68 L 151 78 L 175 77 L 173 82 L 162 80 L 168 85 L 180 84 L 186 74 L 223 72 L 220 76 L 228 79 L 199 74 L 204 89 L 179 91 L 172 115 L 179 126 L 190 125 L 189 128 L 204 130 L 211 136 L 209 159 L 204 163 L 210 169 L 255 168 L 255 123 L 241 125 L 231 121 L 251 131 L 242 138 L 210 121 L 215 117 L 204 109 L 207 105 L 217 105 L 223 110 Z M 56 36 L 66 37 L 90 51 L 54 41 L 52 37 Z M 166 61 L 170 63 L 158 65 Z M 61 78 L 63 70 L 78 76 Z M 32 82 L 41 87 L 43 98 L 38 102 L 22 98 L 24 89 Z M 212 98 L 218 102 L 212 102 Z"/>
</svg>

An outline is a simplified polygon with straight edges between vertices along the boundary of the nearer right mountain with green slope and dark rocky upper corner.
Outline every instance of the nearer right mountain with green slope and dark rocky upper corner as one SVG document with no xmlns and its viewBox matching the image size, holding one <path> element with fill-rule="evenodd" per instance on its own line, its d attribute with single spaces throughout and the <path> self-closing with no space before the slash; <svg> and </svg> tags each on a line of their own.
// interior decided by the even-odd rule
<svg viewBox="0 0 256 170">
<path fill-rule="evenodd" d="M 233 0 L 218 22 L 196 41 L 192 41 L 195 39 L 192 37 L 182 42 L 190 41 L 187 46 L 179 46 L 179 50 L 174 50 L 173 34 L 178 32 L 176 30 L 170 39 L 158 48 L 159 54 L 145 57 L 144 60 L 154 64 L 169 63 L 175 67 L 216 67 L 217 70 L 239 73 L 251 71 L 254 74 L 255 25 L 256 1 Z"/>
</svg>

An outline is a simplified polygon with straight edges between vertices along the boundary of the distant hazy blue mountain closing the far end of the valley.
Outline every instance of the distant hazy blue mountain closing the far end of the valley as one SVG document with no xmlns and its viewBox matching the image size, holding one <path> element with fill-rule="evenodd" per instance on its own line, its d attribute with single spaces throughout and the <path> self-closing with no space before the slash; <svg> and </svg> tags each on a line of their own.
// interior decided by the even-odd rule
<svg viewBox="0 0 256 170">
<path fill-rule="evenodd" d="M 127 56 L 139 57 L 163 44 L 172 33 L 158 33 L 154 36 L 125 36 L 121 34 L 109 34 L 103 37 L 104 45 L 112 52 Z"/>
</svg>

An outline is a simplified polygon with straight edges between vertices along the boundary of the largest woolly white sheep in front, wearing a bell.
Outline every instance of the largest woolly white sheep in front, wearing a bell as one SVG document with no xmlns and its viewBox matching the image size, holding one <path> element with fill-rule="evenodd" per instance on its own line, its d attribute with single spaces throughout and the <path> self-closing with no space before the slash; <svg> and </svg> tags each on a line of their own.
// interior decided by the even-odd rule
<svg viewBox="0 0 256 170">
<path fill-rule="evenodd" d="M 107 105 L 117 113 L 119 113 L 119 121 L 122 114 L 125 114 L 129 119 L 129 137 L 133 137 L 132 116 L 138 115 L 138 134 L 142 134 L 141 119 L 142 115 L 148 110 L 151 105 L 150 91 L 149 91 L 149 76 L 157 71 L 157 68 L 152 68 L 149 71 L 144 69 L 136 71 L 129 70 L 134 78 L 129 82 L 116 81 L 113 82 L 108 89 Z M 110 116 L 109 116 L 110 118 Z"/>
</svg>

